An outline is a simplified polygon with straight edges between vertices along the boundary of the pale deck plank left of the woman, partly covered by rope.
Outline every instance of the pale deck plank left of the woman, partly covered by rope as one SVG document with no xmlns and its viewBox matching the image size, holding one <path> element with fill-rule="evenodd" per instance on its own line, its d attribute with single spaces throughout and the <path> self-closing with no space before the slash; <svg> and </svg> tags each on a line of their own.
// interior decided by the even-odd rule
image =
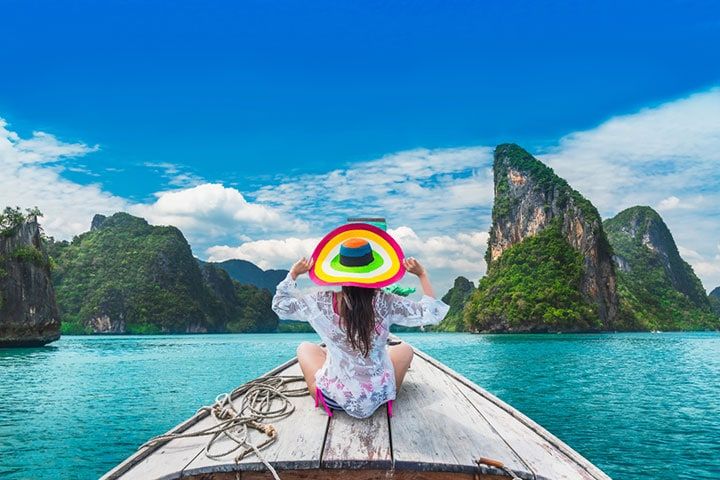
<svg viewBox="0 0 720 480">
<path fill-rule="evenodd" d="M 283 375 L 300 375 L 300 366 L 295 364 Z M 295 412 L 289 417 L 271 422 L 278 431 L 275 443 L 261 450 L 261 455 L 277 469 L 313 469 L 320 467 L 320 457 L 328 428 L 328 417 L 322 409 L 315 409 L 312 397 L 291 397 Z M 239 403 L 238 403 L 239 404 Z M 264 435 L 252 432 L 252 438 L 261 441 Z M 213 447 L 222 451 L 234 446 L 229 439 L 220 439 Z M 262 461 L 255 455 L 248 455 L 236 464 L 235 453 L 214 460 L 205 454 L 199 455 L 183 470 L 183 476 L 211 472 L 234 472 L 237 470 L 265 470 Z"/>
</svg>

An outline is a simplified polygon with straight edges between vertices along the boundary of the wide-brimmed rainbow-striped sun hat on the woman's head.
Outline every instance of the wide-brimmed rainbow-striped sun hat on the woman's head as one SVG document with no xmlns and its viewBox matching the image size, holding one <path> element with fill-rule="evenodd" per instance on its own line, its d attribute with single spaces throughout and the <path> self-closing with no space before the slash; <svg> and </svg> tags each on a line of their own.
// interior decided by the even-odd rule
<svg viewBox="0 0 720 480">
<path fill-rule="evenodd" d="M 381 288 L 405 274 L 400 245 L 368 223 L 349 223 L 325 235 L 315 247 L 310 279 L 318 285 Z"/>
</svg>

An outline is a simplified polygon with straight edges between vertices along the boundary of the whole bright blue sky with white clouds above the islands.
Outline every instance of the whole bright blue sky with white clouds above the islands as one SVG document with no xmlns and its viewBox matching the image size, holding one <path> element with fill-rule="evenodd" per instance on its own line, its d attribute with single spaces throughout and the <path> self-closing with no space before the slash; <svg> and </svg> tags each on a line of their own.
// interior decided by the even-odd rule
<svg viewBox="0 0 720 480">
<path fill-rule="evenodd" d="M 44 204 L 57 236 L 83 231 L 91 210 L 127 209 L 179 224 L 203 258 L 224 246 L 224 256 L 279 266 L 282 252 L 301 250 L 288 239 L 305 248 L 367 206 L 410 229 L 408 243 L 428 256 L 448 253 L 431 239 L 466 235 L 468 250 L 448 254 L 457 261 L 435 263 L 445 283 L 477 277 L 484 266 L 468 262 L 481 263 L 469 252 L 484 248 L 488 227 L 488 147 L 512 141 L 547 155 L 605 215 L 666 201 L 686 259 L 707 288 L 720 284 L 719 232 L 703 241 L 681 241 L 680 232 L 700 212 L 715 218 L 710 199 L 720 187 L 700 199 L 691 180 L 666 175 L 668 165 L 717 160 L 703 143 L 716 138 L 720 116 L 716 2 L 10 1 L 2 9 L 5 162 L 31 176 L 8 181 L 0 200 Z M 613 119 L 646 132 L 640 125 L 655 117 L 639 112 L 658 108 L 677 133 L 673 119 L 695 119 L 697 104 L 708 119 L 689 137 L 705 135 L 693 145 L 707 152 L 683 160 L 672 150 L 687 149 L 682 138 L 665 153 L 636 152 L 642 160 L 632 161 L 652 180 L 646 195 L 618 176 L 602 191 L 584 185 L 607 166 L 599 159 L 655 145 L 603 135 Z M 578 132 L 585 150 L 571 158 Z M 391 183 L 373 184 L 383 189 L 360 188 L 376 178 L 363 171 L 397 165 L 406 170 Z M 667 181 L 653 184 L 659 177 Z M 31 178 L 58 190 L 13 190 Z M 438 212 L 448 192 L 458 201 Z"/>
</svg>

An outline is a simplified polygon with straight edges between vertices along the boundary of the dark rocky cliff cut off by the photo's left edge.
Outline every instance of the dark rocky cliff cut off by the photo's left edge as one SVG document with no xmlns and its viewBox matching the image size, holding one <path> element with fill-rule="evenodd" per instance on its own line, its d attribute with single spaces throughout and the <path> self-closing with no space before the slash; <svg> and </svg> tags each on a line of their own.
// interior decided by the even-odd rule
<svg viewBox="0 0 720 480">
<path fill-rule="evenodd" d="M 37 217 L 5 227 L 0 232 L 0 347 L 53 342 L 60 338 L 60 317 Z"/>
</svg>

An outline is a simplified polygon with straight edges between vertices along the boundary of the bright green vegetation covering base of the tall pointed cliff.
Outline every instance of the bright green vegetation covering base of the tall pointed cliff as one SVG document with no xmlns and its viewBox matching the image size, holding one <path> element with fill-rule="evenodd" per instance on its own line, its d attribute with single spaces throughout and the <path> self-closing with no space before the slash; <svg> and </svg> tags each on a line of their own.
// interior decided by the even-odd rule
<svg viewBox="0 0 720 480">
<path fill-rule="evenodd" d="M 599 330 L 597 309 L 580 291 L 583 257 L 559 223 L 508 248 L 480 280 L 465 306 L 474 331 Z"/>
</svg>

